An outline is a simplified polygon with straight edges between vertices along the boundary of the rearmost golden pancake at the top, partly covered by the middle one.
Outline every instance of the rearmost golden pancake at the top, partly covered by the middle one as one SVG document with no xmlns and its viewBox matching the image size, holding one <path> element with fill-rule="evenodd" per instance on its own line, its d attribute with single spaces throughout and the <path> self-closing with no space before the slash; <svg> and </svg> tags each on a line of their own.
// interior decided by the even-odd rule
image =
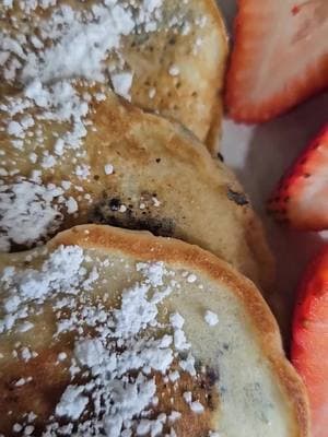
<svg viewBox="0 0 328 437">
<path fill-rule="evenodd" d="M 4 1 L 0 93 L 34 80 L 102 80 L 180 121 L 214 153 L 226 40 L 213 0 Z"/>
</svg>

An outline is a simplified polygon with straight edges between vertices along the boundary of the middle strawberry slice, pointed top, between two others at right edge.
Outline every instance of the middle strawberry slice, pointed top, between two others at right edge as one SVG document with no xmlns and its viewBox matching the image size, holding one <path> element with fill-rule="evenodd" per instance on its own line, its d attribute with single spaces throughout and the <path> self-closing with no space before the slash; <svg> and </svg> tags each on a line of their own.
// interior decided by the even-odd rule
<svg viewBox="0 0 328 437">
<path fill-rule="evenodd" d="M 298 229 L 328 229 L 328 125 L 282 178 L 268 210 Z"/>
</svg>

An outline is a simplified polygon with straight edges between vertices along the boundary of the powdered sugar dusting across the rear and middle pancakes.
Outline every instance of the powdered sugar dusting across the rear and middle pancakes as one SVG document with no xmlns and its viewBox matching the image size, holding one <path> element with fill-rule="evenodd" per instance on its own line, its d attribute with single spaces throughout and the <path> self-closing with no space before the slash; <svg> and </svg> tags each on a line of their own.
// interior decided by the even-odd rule
<svg viewBox="0 0 328 437">
<path fill-rule="evenodd" d="M 3 7 L 10 10 L 12 1 L 5 0 Z M 0 131 L 11 145 L 4 147 L 0 163 L 1 251 L 44 241 L 66 223 L 68 214 L 79 215 L 81 199 L 91 202 L 89 192 L 72 193 L 70 181 L 49 188 L 46 180 L 69 161 L 81 191 L 91 181 L 83 145 L 89 130 L 96 129 L 92 126 L 95 104 L 106 98 L 109 84 L 117 94 L 131 98 L 134 73 L 124 56 L 126 37 L 132 36 L 138 46 L 140 38 L 152 33 L 188 33 L 189 20 L 198 25 L 197 17 L 186 13 L 188 9 L 177 8 L 168 17 L 165 0 L 95 0 L 83 8 L 79 2 L 28 0 L 17 1 L 15 8 L 19 12 L 8 15 L 11 26 L 3 24 L 0 29 L 1 76 L 21 88 L 0 103 Z M 5 16 L 7 12 L 0 15 L 3 23 Z M 171 73 L 178 74 L 177 70 L 173 64 Z M 152 90 L 150 98 L 154 96 Z M 113 170 L 105 164 L 105 175 Z M 152 201 L 160 208 L 155 197 Z M 141 202 L 140 209 L 145 208 Z M 121 205 L 120 212 L 126 211 Z M 20 232 L 23 227 L 25 235 Z"/>
</svg>

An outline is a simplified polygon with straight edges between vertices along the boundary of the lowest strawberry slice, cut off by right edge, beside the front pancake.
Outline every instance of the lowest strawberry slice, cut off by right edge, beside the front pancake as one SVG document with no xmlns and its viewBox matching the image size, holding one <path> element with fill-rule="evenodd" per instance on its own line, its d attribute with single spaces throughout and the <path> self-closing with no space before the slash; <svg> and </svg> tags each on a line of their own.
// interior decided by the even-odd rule
<svg viewBox="0 0 328 437">
<path fill-rule="evenodd" d="M 328 435 L 328 246 L 308 267 L 293 321 L 292 362 L 307 387 L 312 436 Z"/>
</svg>

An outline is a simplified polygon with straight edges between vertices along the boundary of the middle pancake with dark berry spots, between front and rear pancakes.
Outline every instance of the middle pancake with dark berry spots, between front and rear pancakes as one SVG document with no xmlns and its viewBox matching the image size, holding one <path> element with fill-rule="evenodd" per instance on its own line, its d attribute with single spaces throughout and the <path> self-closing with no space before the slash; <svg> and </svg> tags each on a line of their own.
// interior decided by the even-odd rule
<svg viewBox="0 0 328 437">
<path fill-rule="evenodd" d="M 3 98 L 0 149 L 1 250 L 104 223 L 197 244 L 271 284 L 262 226 L 233 174 L 181 126 L 104 85 L 35 83 Z"/>
</svg>

